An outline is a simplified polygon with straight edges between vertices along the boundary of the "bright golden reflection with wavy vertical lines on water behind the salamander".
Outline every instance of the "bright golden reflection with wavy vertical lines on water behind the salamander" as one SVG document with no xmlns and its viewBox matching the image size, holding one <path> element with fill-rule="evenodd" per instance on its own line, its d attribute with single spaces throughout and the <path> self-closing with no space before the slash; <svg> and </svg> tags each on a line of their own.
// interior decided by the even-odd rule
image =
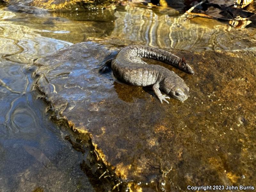
<svg viewBox="0 0 256 192">
<path fill-rule="evenodd" d="M 188 19 L 154 9 L 118 8 L 111 36 L 141 44 L 182 50 L 232 50 L 255 46 L 255 29 L 236 30 L 225 23 L 205 18 Z"/>
</svg>

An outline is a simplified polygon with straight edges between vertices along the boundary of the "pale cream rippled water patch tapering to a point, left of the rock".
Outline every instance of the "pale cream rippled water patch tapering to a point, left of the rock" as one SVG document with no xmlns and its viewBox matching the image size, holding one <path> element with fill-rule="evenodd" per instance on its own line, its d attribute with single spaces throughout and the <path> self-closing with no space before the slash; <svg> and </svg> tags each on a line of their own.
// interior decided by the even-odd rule
<svg viewBox="0 0 256 192">
<path fill-rule="evenodd" d="M 0 54 L 4 59 L 29 63 L 30 59 L 41 57 L 72 44 L 41 36 L 38 32 L 43 30 L 8 21 L 14 16 L 15 14 L 0 10 Z"/>
</svg>

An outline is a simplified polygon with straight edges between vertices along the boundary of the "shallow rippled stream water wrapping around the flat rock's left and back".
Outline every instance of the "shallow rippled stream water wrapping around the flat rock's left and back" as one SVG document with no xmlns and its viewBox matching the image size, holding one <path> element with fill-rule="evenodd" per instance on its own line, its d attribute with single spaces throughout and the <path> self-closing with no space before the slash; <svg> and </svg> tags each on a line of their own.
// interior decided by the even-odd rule
<svg viewBox="0 0 256 192">
<path fill-rule="evenodd" d="M 255 47 L 256 29 L 237 30 L 174 9 L 143 6 L 50 13 L 0 9 L 0 191 L 94 191 L 80 169 L 82 154 L 64 138 L 34 90 L 31 60 L 88 37 L 116 36 L 140 44 L 190 51 Z"/>
</svg>

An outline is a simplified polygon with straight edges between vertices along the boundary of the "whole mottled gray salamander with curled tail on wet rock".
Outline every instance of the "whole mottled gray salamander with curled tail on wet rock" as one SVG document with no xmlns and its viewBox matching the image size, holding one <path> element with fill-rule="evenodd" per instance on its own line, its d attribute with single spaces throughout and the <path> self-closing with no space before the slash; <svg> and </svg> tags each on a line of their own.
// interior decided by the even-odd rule
<svg viewBox="0 0 256 192">
<path fill-rule="evenodd" d="M 177 67 L 189 74 L 194 74 L 193 69 L 184 58 L 153 47 L 131 45 L 123 48 L 111 62 L 114 76 L 127 83 L 138 86 L 152 86 L 153 90 L 163 103 L 170 97 L 162 95 L 163 92 L 178 100 L 188 99 L 189 88 L 174 72 L 159 65 L 148 65 L 141 57 L 159 60 Z"/>
</svg>

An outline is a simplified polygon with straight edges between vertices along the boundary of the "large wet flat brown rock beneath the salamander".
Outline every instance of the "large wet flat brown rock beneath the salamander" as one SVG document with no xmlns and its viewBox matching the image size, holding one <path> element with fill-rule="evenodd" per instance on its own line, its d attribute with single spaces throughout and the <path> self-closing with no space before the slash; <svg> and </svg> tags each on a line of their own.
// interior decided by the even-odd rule
<svg viewBox="0 0 256 192">
<path fill-rule="evenodd" d="M 166 191 L 255 184 L 256 49 L 174 51 L 194 76 L 146 60 L 175 71 L 190 88 L 184 102 L 161 104 L 150 88 L 98 72 L 130 44 L 89 39 L 37 59 L 36 87 L 56 118 L 89 133 L 110 170 L 122 180 L 142 182 L 137 190 L 147 183 Z"/>
</svg>

